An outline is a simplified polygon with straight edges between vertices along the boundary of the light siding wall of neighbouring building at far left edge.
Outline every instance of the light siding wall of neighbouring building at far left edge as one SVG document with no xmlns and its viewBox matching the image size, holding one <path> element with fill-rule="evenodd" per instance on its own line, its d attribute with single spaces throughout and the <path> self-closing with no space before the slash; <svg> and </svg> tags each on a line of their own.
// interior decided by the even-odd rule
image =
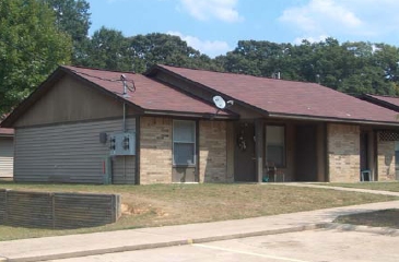
<svg viewBox="0 0 399 262">
<path fill-rule="evenodd" d="M 0 138 L 0 177 L 11 178 L 14 163 L 13 138 Z"/>
</svg>

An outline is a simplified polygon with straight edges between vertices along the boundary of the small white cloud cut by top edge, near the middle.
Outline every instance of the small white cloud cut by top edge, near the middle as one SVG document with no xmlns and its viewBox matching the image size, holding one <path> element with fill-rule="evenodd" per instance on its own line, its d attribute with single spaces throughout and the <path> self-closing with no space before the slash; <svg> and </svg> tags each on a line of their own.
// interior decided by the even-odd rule
<svg viewBox="0 0 399 262">
<path fill-rule="evenodd" d="M 180 0 L 180 3 L 198 20 L 216 19 L 228 23 L 244 20 L 236 9 L 237 0 Z"/>
</svg>

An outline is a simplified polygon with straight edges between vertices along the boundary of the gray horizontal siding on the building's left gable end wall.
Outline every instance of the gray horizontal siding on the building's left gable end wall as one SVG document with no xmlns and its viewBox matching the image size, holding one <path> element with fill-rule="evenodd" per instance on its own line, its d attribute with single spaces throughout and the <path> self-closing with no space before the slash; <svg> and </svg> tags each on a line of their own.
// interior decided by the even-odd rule
<svg viewBox="0 0 399 262">
<path fill-rule="evenodd" d="M 118 119 L 16 129 L 14 180 L 103 183 L 109 145 L 99 142 L 99 133 L 118 133 L 121 127 Z M 136 131 L 134 118 L 127 120 L 127 128 Z M 134 183 L 136 157 L 126 157 L 125 165 L 120 158 L 113 157 L 115 182 Z"/>
</svg>

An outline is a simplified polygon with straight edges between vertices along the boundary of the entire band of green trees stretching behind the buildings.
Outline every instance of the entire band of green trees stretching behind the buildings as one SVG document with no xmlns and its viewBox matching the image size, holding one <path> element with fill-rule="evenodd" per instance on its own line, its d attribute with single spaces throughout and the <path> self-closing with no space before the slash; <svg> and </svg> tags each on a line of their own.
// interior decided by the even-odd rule
<svg viewBox="0 0 399 262">
<path fill-rule="evenodd" d="M 386 44 L 327 38 L 300 45 L 239 40 L 214 59 L 178 36 L 126 37 L 102 27 L 87 36 L 85 0 L 0 2 L 0 115 L 26 97 L 59 63 L 145 72 L 153 64 L 320 83 L 352 95 L 399 95 L 399 49 Z M 72 56 L 71 56 L 72 55 Z"/>
</svg>

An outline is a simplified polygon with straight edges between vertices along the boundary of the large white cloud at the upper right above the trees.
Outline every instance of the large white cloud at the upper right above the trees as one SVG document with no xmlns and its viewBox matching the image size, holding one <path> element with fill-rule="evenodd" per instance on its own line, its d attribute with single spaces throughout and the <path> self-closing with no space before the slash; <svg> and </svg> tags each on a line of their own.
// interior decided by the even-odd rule
<svg viewBox="0 0 399 262">
<path fill-rule="evenodd" d="M 297 35 L 320 39 L 335 38 L 384 40 L 399 35 L 397 0 L 308 0 L 284 10 L 279 17 Z"/>
</svg>

